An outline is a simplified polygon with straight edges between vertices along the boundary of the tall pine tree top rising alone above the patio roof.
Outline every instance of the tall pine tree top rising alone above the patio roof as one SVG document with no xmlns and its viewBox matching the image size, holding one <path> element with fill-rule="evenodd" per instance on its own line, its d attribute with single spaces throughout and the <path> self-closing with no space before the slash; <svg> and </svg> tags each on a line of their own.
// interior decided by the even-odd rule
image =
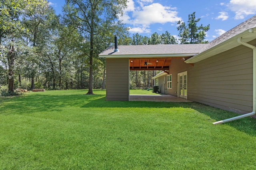
<svg viewBox="0 0 256 170">
<path fill-rule="evenodd" d="M 196 12 L 188 15 L 188 25 L 186 25 L 182 21 L 178 21 L 177 27 L 180 37 L 180 43 L 186 44 L 194 44 L 194 43 L 208 43 L 208 41 L 204 41 L 206 37 L 206 31 L 210 29 L 210 24 L 207 26 L 197 26 L 197 23 L 200 21 L 200 18 L 196 19 Z"/>
</svg>

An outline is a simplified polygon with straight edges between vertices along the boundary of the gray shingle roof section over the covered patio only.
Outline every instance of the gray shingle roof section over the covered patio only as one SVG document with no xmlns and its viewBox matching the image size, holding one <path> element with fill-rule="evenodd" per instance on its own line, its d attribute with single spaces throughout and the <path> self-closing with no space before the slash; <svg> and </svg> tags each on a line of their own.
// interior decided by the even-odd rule
<svg viewBox="0 0 256 170">
<path fill-rule="evenodd" d="M 99 55 L 190 54 L 200 53 L 207 46 L 207 44 L 119 45 L 119 52 L 113 53 L 114 47 L 110 47 Z"/>
</svg>

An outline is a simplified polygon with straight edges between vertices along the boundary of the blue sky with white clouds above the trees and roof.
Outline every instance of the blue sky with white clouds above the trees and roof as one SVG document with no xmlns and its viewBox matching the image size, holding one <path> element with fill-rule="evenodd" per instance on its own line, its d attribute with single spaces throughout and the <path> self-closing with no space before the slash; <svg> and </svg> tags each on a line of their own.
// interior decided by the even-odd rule
<svg viewBox="0 0 256 170">
<path fill-rule="evenodd" d="M 206 39 L 212 41 L 222 33 L 256 15 L 256 0 L 128 0 L 123 23 L 130 34 L 143 36 L 168 31 L 178 38 L 177 21 L 188 21 L 188 14 L 196 12 L 198 24 L 210 24 Z M 64 0 L 49 0 L 57 14 L 62 13 Z"/>
</svg>

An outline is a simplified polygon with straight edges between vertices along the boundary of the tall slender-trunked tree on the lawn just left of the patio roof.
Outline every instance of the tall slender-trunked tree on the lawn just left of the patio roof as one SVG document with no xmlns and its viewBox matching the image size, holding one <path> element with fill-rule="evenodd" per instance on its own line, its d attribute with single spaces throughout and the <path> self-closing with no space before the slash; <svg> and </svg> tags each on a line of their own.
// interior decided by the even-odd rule
<svg viewBox="0 0 256 170">
<path fill-rule="evenodd" d="M 93 57 L 98 55 L 94 53 L 94 38 L 102 32 L 114 33 L 116 26 L 121 24 L 118 16 L 122 15 L 126 2 L 127 0 L 66 0 L 64 12 L 68 22 L 81 31 L 85 41 L 90 42 L 87 94 L 93 94 Z"/>
</svg>

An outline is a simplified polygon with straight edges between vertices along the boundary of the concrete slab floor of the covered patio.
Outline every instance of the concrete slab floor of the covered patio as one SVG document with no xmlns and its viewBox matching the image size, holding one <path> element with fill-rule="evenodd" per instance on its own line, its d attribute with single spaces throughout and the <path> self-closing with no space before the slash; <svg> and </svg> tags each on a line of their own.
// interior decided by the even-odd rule
<svg viewBox="0 0 256 170">
<path fill-rule="evenodd" d="M 150 102 L 192 102 L 183 98 L 171 95 L 134 95 L 130 94 L 130 101 L 150 101 Z"/>
</svg>

